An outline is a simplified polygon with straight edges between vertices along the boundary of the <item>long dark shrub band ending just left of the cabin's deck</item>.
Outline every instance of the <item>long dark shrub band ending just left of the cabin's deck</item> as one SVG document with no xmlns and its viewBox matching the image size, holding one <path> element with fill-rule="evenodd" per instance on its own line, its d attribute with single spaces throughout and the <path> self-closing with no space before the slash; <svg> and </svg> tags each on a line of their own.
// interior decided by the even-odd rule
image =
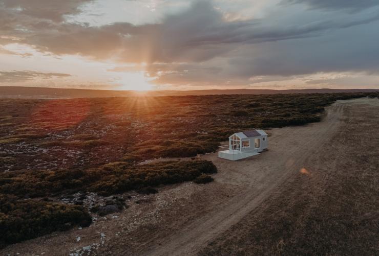
<svg viewBox="0 0 379 256">
<path fill-rule="evenodd" d="M 0 193 L 44 197 L 64 192 L 97 192 L 112 195 L 160 184 L 191 181 L 216 173 L 211 161 L 161 161 L 146 165 L 116 162 L 88 170 L 15 171 L 0 174 Z"/>
</svg>

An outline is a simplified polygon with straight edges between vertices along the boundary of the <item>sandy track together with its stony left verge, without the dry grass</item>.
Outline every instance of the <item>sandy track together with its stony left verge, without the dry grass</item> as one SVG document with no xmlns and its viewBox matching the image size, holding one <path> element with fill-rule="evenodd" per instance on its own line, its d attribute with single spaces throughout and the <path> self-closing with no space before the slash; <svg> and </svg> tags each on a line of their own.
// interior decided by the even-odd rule
<svg viewBox="0 0 379 256">
<path fill-rule="evenodd" d="M 328 150 L 344 127 L 346 106 L 378 106 L 377 99 L 338 101 L 323 121 L 272 129 L 269 150 L 228 161 L 207 154 L 219 172 L 205 185 L 187 182 L 159 189 L 156 195 L 132 197 L 122 213 L 98 218 L 90 227 L 8 246 L 0 255 L 194 255 L 286 185 L 308 159 Z M 80 237 L 80 239 L 78 239 Z"/>
</svg>

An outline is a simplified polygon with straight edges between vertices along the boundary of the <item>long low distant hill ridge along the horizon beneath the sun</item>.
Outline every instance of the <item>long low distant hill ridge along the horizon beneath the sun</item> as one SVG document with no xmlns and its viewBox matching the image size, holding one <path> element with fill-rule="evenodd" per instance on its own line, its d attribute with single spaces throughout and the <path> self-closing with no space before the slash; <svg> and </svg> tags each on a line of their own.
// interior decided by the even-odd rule
<svg viewBox="0 0 379 256">
<path fill-rule="evenodd" d="M 379 89 L 221 89 L 221 90 L 92 90 L 45 87 L 0 86 L 0 98 L 58 99 L 58 98 L 101 98 L 136 96 L 184 96 L 184 95 L 232 95 L 232 94 L 312 94 L 336 92 L 371 92 Z"/>
</svg>

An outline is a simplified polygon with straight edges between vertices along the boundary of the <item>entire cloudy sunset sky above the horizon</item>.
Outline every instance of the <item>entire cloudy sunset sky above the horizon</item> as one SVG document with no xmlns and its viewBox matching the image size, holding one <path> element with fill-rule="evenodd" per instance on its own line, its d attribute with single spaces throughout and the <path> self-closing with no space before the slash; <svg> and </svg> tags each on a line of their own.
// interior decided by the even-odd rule
<svg viewBox="0 0 379 256">
<path fill-rule="evenodd" d="M 0 0 L 0 86 L 379 89 L 377 0 Z"/>
</svg>

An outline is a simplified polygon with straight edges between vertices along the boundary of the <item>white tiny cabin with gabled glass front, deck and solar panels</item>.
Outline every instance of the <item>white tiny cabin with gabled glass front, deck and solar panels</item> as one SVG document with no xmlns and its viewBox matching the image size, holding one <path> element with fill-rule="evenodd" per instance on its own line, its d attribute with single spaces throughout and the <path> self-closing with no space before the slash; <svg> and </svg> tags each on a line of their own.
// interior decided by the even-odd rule
<svg viewBox="0 0 379 256">
<path fill-rule="evenodd" d="M 267 133 L 263 130 L 236 132 L 229 136 L 228 150 L 219 151 L 219 157 L 238 160 L 258 155 L 267 148 Z M 227 147 L 228 145 L 222 146 Z"/>
</svg>

